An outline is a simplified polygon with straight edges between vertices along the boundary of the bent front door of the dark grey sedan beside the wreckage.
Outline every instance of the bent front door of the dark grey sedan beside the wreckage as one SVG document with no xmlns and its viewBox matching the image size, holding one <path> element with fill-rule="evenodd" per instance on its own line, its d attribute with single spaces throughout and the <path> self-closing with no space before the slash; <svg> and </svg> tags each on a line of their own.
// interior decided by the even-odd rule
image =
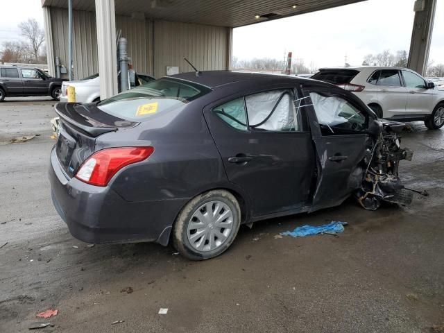
<svg viewBox="0 0 444 333">
<path fill-rule="evenodd" d="M 305 87 L 304 95 L 318 157 L 314 211 L 341 204 L 361 187 L 369 115 L 337 88 Z"/>
</svg>

